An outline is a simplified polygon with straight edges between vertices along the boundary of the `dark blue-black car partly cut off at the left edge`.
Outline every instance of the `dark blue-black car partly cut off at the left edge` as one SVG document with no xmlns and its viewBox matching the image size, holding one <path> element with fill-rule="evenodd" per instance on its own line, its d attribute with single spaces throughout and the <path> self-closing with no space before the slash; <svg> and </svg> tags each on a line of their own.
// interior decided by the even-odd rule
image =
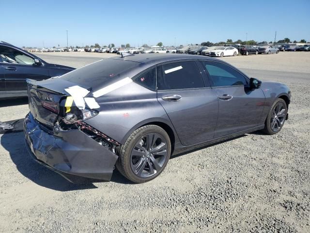
<svg viewBox="0 0 310 233">
<path fill-rule="evenodd" d="M 0 41 L 0 99 L 26 97 L 26 79 L 40 81 L 72 70 L 72 67 L 47 63 L 30 52 Z"/>
</svg>

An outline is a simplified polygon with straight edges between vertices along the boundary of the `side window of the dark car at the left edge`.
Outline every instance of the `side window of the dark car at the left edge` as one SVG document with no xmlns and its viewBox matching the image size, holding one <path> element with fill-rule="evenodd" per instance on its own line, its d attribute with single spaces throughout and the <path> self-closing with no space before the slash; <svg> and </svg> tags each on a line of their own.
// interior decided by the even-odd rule
<svg viewBox="0 0 310 233">
<path fill-rule="evenodd" d="M 11 48 L 0 47 L 0 61 L 3 63 L 14 63 L 23 65 L 34 64 L 34 59 L 30 56 Z"/>
</svg>

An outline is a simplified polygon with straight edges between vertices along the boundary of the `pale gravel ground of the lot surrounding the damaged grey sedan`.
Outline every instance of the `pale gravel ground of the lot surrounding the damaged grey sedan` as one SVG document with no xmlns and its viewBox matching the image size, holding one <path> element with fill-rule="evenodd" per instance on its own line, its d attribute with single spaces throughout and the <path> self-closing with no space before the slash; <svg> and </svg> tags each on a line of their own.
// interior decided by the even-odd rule
<svg viewBox="0 0 310 233">
<path fill-rule="evenodd" d="M 112 54 L 40 53 L 81 67 Z M 154 181 L 72 184 L 32 161 L 23 133 L 0 135 L 0 232 L 310 232 L 310 52 L 226 57 L 250 77 L 286 83 L 290 119 L 171 158 Z M 1 100 L 0 120 L 27 100 Z M 246 116 L 245 116 L 246 117 Z"/>
</svg>

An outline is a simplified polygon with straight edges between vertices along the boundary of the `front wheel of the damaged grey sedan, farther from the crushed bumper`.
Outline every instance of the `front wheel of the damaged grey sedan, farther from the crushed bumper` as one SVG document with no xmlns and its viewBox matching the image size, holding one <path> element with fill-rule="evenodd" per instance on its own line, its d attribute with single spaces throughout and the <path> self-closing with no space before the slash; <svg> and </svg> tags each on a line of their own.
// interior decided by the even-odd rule
<svg viewBox="0 0 310 233">
<path fill-rule="evenodd" d="M 275 134 L 278 133 L 285 122 L 287 113 L 287 106 L 284 100 L 276 100 L 265 120 L 265 128 L 263 129 L 264 133 Z"/>
</svg>

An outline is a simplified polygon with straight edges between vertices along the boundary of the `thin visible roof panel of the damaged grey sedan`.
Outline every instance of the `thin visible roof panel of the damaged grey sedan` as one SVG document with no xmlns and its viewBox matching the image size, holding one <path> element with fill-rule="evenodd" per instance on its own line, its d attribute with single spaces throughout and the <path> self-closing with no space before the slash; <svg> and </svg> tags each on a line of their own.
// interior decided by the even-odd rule
<svg viewBox="0 0 310 233">
<path fill-rule="evenodd" d="M 115 58 L 108 58 L 108 59 L 118 59 L 124 61 L 132 61 L 132 62 L 139 62 L 143 64 L 148 64 L 153 66 L 155 64 L 170 62 L 170 61 L 178 61 L 178 60 L 195 60 L 195 59 L 203 59 L 203 60 L 217 60 L 216 58 L 212 57 L 202 57 L 200 55 L 188 55 L 188 54 L 154 54 L 154 53 L 146 53 L 146 54 L 137 54 L 137 55 L 129 55 L 122 57 L 115 57 Z"/>
</svg>

